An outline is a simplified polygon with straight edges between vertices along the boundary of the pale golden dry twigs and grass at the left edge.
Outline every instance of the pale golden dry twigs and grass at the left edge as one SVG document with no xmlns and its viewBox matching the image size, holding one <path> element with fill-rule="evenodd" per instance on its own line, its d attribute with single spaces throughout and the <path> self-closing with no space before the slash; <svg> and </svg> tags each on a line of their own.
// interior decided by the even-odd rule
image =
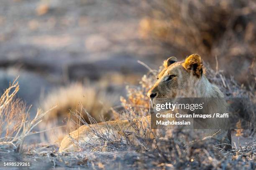
<svg viewBox="0 0 256 170">
<path fill-rule="evenodd" d="M 24 139 L 38 133 L 32 130 L 47 112 L 41 113 L 38 110 L 36 116 L 29 120 L 26 105 L 19 99 L 15 99 L 18 90 L 17 77 L 0 97 L 0 145 L 13 145 L 20 151 L 23 148 Z"/>
</svg>

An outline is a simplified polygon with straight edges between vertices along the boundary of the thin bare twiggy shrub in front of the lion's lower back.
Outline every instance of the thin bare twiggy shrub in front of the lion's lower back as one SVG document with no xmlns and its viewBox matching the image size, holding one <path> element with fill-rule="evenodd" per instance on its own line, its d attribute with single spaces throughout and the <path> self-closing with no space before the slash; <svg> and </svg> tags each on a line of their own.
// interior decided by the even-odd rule
<svg viewBox="0 0 256 170">
<path fill-rule="evenodd" d="M 84 117 L 82 117 L 81 114 L 72 112 L 73 115 L 79 118 L 82 124 L 89 128 L 89 134 L 87 135 L 87 138 L 90 139 L 89 141 L 77 140 L 69 135 L 73 143 L 81 150 L 113 151 L 138 147 L 142 150 L 149 150 L 148 146 L 150 145 L 148 144 L 152 143 L 155 139 L 153 138 L 152 140 L 150 138 L 150 136 L 154 136 L 154 133 L 150 128 L 150 122 L 143 121 L 146 119 L 145 116 L 138 117 L 138 115 L 133 115 L 134 110 L 131 108 L 126 110 L 125 114 L 128 115 L 130 126 L 134 129 L 132 131 L 129 130 L 130 128 L 118 130 L 110 125 L 108 121 L 104 121 L 104 125 L 99 126 L 97 121 L 88 112 L 86 113 L 90 120 L 90 124 L 84 120 Z M 134 119 L 134 117 L 138 119 Z"/>
</svg>

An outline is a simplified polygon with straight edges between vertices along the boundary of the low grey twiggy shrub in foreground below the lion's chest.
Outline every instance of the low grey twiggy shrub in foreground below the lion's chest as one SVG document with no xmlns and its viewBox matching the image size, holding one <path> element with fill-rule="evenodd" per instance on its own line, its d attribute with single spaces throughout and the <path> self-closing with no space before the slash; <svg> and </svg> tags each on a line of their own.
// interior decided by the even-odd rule
<svg viewBox="0 0 256 170">
<path fill-rule="evenodd" d="M 183 141 L 180 140 L 181 135 L 184 136 Z M 162 169 L 254 169 L 255 140 L 244 147 L 223 152 L 209 140 L 187 145 L 193 138 L 188 132 L 175 131 L 171 138 L 159 140 L 154 152 L 143 153 L 141 157 L 152 158 L 151 163 Z"/>
</svg>

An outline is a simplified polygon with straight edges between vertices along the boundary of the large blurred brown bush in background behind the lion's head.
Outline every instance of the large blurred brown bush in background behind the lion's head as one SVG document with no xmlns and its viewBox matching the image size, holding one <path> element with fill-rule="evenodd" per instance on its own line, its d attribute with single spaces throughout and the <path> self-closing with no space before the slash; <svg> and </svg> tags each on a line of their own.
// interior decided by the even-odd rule
<svg viewBox="0 0 256 170">
<path fill-rule="evenodd" d="M 143 38 L 160 42 L 177 57 L 199 53 L 220 59 L 225 74 L 254 87 L 256 3 L 253 0 L 147 0 Z M 245 68 L 245 69 L 243 69 Z"/>
</svg>

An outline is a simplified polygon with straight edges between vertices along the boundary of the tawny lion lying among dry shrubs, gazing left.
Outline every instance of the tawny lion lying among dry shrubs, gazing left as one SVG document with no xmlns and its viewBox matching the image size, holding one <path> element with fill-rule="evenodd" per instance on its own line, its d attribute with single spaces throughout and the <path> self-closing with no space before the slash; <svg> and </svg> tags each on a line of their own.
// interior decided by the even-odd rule
<svg viewBox="0 0 256 170">
<path fill-rule="evenodd" d="M 173 102 L 177 97 L 207 97 L 208 102 L 204 112 L 225 112 L 225 100 L 223 93 L 220 92 L 217 86 L 211 84 L 205 77 L 205 69 L 203 68 L 200 55 L 193 54 L 186 58 L 185 61 L 177 62 L 177 58 L 170 57 L 164 61 L 164 69 L 159 73 L 158 80 L 154 86 L 148 91 L 148 97 L 151 100 L 152 106 Z M 218 100 L 216 100 L 218 98 Z M 112 128 L 112 137 L 120 137 L 123 131 L 135 131 L 132 124 L 137 127 L 143 123 L 151 122 L 151 115 L 146 117 L 138 117 L 133 121 L 115 120 L 107 122 L 108 127 Z M 225 143 L 224 149 L 229 149 L 231 146 L 231 135 L 229 130 L 218 130 L 212 127 L 223 127 L 225 119 L 202 119 L 203 124 L 209 125 L 208 130 L 202 130 L 205 137 L 214 137 L 219 143 Z M 62 140 L 59 152 L 70 152 L 78 149 L 71 138 L 82 142 L 90 143 L 94 138 L 97 141 L 97 135 L 91 132 L 91 128 L 98 129 L 102 133 L 106 132 L 106 123 L 97 123 L 91 125 L 82 125 L 79 129 L 69 133 Z M 111 138 L 111 137 L 110 137 Z M 152 133 L 148 133 L 148 138 L 154 138 Z M 95 140 L 94 140 L 95 141 Z"/>
</svg>

